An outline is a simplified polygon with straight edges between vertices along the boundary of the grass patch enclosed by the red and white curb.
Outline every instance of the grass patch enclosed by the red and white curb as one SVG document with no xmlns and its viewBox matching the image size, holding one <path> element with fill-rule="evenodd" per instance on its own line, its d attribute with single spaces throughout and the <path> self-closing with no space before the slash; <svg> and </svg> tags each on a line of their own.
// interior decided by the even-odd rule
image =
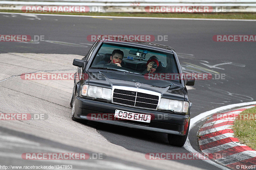
<svg viewBox="0 0 256 170">
<path fill-rule="evenodd" d="M 246 109 L 240 114 L 256 114 L 256 107 Z M 240 116 L 238 115 L 238 117 Z M 255 117 L 254 117 L 255 118 Z M 256 149 L 256 120 L 236 120 L 234 121 L 234 134 L 235 136 L 247 146 Z"/>
</svg>

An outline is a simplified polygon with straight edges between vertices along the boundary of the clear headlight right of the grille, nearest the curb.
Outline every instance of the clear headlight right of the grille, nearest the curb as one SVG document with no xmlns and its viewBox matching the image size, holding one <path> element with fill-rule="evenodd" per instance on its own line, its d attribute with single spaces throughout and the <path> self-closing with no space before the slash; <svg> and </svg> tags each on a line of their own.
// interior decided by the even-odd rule
<svg viewBox="0 0 256 170">
<path fill-rule="evenodd" d="M 174 112 L 188 113 L 188 102 L 162 98 L 158 109 L 174 110 Z"/>
</svg>

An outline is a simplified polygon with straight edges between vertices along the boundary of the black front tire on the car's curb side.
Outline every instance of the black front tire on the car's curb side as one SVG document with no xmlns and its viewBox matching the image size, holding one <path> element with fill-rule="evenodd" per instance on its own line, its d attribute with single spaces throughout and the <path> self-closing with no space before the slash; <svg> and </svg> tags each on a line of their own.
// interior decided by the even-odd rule
<svg viewBox="0 0 256 170">
<path fill-rule="evenodd" d="M 182 147 L 185 144 L 187 137 L 188 137 L 189 124 L 188 124 L 188 129 L 187 129 L 186 135 L 184 135 L 184 136 L 168 134 L 168 142 L 170 145 Z"/>
</svg>

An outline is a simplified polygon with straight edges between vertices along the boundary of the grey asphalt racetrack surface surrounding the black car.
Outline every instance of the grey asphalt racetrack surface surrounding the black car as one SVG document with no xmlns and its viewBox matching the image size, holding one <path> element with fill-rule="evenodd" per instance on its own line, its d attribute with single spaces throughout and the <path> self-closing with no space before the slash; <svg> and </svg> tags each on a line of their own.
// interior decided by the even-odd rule
<svg viewBox="0 0 256 170">
<path fill-rule="evenodd" d="M 225 74 L 223 80 L 198 80 L 194 89 L 188 91 L 193 103 L 192 118 L 213 108 L 255 100 L 255 42 L 212 40 L 213 35 L 255 35 L 255 21 L 0 14 L 0 23 L 2 35 L 44 35 L 47 40 L 39 43 L 0 42 L 0 113 L 45 113 L 48 116 L 45 121 L 1 122 L 0 134 L 4 136 L 0 138 L 1 165 L 63 163 L 23 160 L 20 155 L 25 152 L 96 152 L 105 153 L 107 158 L 87 162 L 69 160 L 65 165 L 73 165 L 75 169 L 191 169 L 185 165 L 195 169 L 219 169 L 202 160 L 143 159 L 149 152 L 188 151 L 168 145 L 167 135 L 163 133 L 72 122 L 69 106 L 72 82 L 38 83 L 21 80 L 18 76 L 24 72 L 49 70 L 75 72 L 72 60 L 87 53 L 93 42 L 87 41 L 86 37 L 91 34 L 168 35 L 168 41 L 158 43 L 169 45 L 179 53 L 183 71 Z M 198 122 L 189 134 L 189 141 L 196 151 L 199 151 L 197 132 L 204 121 Z"/>
</svg>

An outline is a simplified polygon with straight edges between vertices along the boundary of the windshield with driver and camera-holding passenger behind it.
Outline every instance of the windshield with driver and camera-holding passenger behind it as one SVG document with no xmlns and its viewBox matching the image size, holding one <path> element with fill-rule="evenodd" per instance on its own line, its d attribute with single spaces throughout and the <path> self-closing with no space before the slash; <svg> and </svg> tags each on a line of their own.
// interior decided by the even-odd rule
<svg viewBox="0 0 256 170">
<path fill-rule="evenodd" d="M 90 68 L 119 70 L 142 75 L 179 73 L 173 54 L 106 43 L 103 43 L 98 50 Z"/>
</svg>

